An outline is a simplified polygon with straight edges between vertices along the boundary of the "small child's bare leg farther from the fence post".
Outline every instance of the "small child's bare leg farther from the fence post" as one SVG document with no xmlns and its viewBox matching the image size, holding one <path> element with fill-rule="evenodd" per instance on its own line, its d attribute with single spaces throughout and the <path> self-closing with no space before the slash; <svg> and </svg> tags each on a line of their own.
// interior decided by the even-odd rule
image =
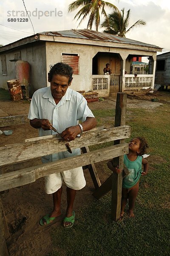
<svg viewBox="0 0 170 256">
<path fill-rule="evenodd" d="M 138 192 L 139 192 L 139 182 L 135 186 L 133 186 L 128 193 L 129 217 L 135 217 L 135 215 L 133 213 L 133 209 L 135 207 L 135 201 L 136 201 Z"/>
</svg>

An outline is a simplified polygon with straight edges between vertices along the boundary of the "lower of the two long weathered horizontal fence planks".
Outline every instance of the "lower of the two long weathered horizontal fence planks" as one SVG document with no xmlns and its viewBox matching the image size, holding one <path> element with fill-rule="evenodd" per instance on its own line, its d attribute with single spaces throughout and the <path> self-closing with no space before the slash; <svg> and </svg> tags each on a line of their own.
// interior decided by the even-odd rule
<svg viewBox="0 0 170 256">
<path fill-rule="evenodd" d="M 53 173 L 64 172 L 69 170 L 70 167 L 76 168 L 82 166 L 82 163 L 83 165 L 97 163 L 111 159 L 111 157 L 127 154 L 127 152 L 128 144 L 122 143 L 120 145 L 113 145 L 111 147 L 90 151 L 76 157 L 68 157 L 55 162 L 2 174 L 0 175 L 0 191 L 32 183 L 40 177 Z"/>
</svg>

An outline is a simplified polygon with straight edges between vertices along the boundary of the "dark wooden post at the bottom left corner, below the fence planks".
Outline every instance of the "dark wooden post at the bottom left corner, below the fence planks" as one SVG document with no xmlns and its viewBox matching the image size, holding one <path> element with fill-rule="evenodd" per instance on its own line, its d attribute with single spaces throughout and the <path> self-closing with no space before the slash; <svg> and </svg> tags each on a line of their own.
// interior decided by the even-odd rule
<svg viewBox="0 0 170 256">
<path fill-rule="evenodd" d="M 0 256 L 8 256 L 8 250 L 6 247 L 6 239 L 3 229 L 3 206 L 0 199 Z"/>
</svg>

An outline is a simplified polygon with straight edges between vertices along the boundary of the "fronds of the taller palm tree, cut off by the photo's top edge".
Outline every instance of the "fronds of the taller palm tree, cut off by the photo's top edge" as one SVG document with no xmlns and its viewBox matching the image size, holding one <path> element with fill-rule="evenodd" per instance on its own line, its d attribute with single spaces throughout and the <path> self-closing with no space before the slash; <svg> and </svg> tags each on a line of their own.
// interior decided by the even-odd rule
<svg viewBox="0 0 170 256">
<path fill-rule="evenodd" d="M 98 31 L 98 27 L 100 24 L 100 14 L 104 15 L 105 19 L 107 19 L 105 7 L 110 7 L 115 10 L 117 9 L 117 7 L 114 6 L 112 3 L 108 3 L 102 0 L 77 0 L 68 6 L 68 12 L 73 12 L 74 10 L 81 8 L 79 12 L 77 12 L 77 15 L 74 17 L 74 19 L 77 18 L 77 20 L 79 20 L 81 18 L 79 22 L 79 25 L 80 25 L 82 21 L 88 15 L 90 15 L 87 29 L 88 28 L 91 29 L 93 26 L 93 23 L 95 23 L 96 31 Z"/>
</svg>

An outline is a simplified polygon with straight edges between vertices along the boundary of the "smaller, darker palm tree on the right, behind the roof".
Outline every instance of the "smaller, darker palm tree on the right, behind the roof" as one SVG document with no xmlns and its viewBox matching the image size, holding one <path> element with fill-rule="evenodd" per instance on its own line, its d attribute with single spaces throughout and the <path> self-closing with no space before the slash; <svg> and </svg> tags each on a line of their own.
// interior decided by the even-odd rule
<svg viewBox="0 0 170 256">
<path fill-rule="evenodd" d="M 109 14 L 108 17 L 105 17 L 105 21 L 101 25 L 102 28 L 106 28 L 104 31 L 105 33 L 125 37 L 125 34 L 127 34 L 134 27 L 146 25 L 144 20 L 137 20 L 129 29 L 127 29 L 129 26 L 130 9 L 127 11 L 126 17 L 124 17 L 124 11 L 124 8 L 121 10 L 121 12 L 116 10 Z"/>
</svg>

